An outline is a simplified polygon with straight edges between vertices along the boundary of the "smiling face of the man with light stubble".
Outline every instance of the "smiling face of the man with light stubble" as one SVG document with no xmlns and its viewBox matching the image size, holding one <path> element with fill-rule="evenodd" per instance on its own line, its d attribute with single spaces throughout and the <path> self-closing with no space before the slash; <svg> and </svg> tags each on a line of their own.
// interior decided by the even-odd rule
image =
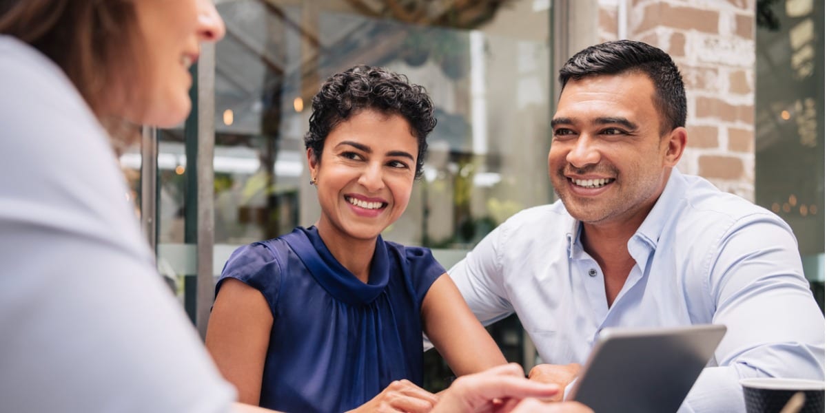
<svg viewBox="0 0 827 413">
<path fill-rule="evenodd" d="M 661 135 L 654 93 L 642 73 L 566 83 L 552 119 L 548 173 L 577 220 L 637 227 L 657 201 L 686 145 L 686 130 Z"/>
</svg>

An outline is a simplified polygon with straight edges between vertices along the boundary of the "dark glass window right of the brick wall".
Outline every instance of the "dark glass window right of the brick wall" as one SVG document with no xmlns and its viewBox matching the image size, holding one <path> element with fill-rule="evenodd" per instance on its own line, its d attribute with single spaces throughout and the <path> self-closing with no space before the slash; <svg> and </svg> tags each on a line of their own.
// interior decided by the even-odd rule
<svg viewBox="0 0 827 413">
<path fill-rule="evenodd" d="M 796 233 L 824 310 L 824 2 L 758 2 L 756 202 Z"/>
</svg>

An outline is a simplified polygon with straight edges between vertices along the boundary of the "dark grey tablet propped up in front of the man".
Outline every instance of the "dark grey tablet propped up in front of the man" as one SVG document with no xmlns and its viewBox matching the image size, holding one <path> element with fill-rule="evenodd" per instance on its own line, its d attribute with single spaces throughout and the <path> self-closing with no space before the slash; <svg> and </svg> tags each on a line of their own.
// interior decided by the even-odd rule
<svg viewBox="0 0 827 413">
<path fill-rule="evenodd" d="M 724 325 L 605 328 L 569 399 L 595 413 L 677 411 L 725 332 Z"/>
</svg>

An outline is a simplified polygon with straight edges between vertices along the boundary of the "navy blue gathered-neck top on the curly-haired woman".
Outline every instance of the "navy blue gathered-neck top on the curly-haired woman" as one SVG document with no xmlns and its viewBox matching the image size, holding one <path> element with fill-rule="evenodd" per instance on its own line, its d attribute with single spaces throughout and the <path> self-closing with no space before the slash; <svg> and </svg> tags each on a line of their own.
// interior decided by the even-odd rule
<svg viewBox="0 0 827 413">
<path fill-rule="evenodd" d="M 273 311 L 261 406 L 340 412 L 394 380 L 422 386 L 420 306 L 443 273 L 430 250 L 380 236 L 364 283 L 333 258 L 314 226 L 298 227 L 233 252 L 216 294 L 224 279 L 237 278 Z"/>
</svg>

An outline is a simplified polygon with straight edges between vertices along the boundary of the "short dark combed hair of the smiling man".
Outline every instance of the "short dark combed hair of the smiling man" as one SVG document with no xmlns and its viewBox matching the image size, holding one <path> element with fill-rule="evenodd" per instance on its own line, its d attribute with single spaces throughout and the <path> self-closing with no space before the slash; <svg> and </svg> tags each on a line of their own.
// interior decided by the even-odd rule
<svg viewBox="0 0 827 413">
<path fill-rule="evenodd" d="M 662 116 L 662 133 L 686 126 L 686 92 L 681 73 L 666 52 L 646 43 L 615 40 L 581 50 L 560 69 L 560 88 L 566 88 L 569 79 L 628 72 L 640 72 L 652 79 L 655 107 Z"/>
</svg>

